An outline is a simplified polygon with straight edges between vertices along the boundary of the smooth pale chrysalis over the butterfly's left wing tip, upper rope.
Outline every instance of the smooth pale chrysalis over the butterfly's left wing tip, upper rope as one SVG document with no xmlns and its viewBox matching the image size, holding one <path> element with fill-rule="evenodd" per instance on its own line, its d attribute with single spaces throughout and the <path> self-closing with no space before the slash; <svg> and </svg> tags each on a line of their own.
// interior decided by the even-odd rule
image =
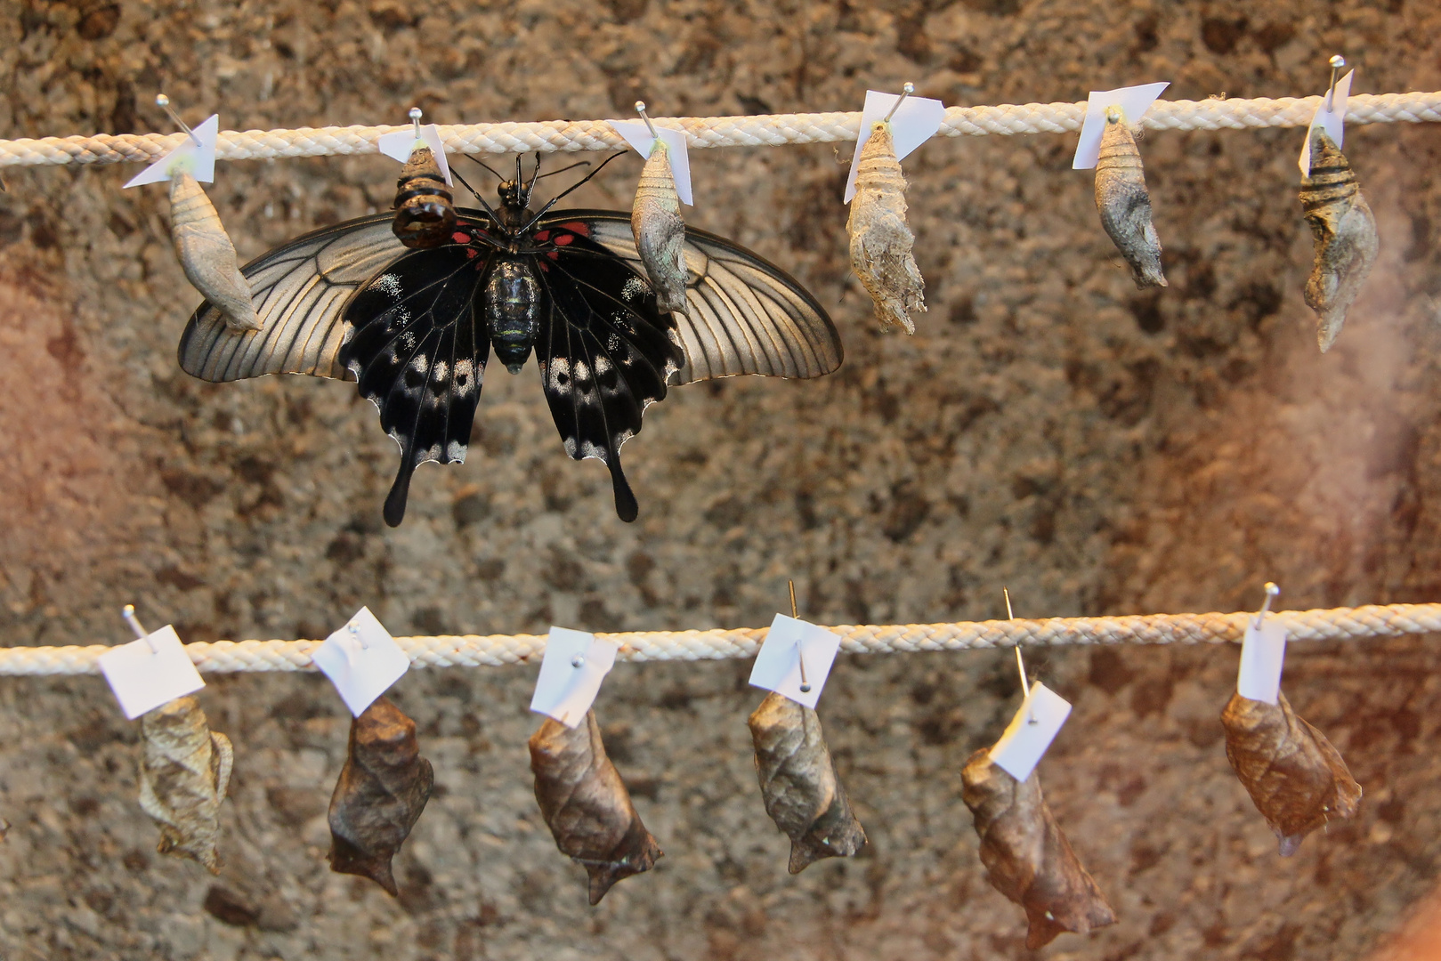
<svg viewBox="0 0 1441 961">
<path fill-rule="evenodd" d="M 251 284 L 241 274 L 220 215 L 205 189 L 184 170 L 170 176 L 170 239 L 192 287 L 225 316 L 231 330 L 259 330 Z"/>
</svg>

